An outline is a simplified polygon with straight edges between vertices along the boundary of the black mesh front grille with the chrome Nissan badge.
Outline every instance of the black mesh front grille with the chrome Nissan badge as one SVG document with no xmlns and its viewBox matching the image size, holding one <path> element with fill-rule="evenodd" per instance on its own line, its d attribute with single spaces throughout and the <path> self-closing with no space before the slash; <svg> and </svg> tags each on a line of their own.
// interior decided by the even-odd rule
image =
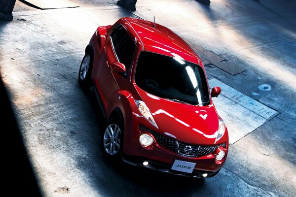
<svg viewBox="0 0 296 197">
<path fill-rule="evenodd" d="M 174 153 L 185 157 L 202 157 L 213 153 L 218 147 L 222 146 L 225 148 L 226 143 L 211 145 L 211 146 L 198 146 L 185 144 L 180 141 L 173 140 L 155 131 L 152 131 L 142 125 L 140 125 L 141 131 L 147 131 L 151 133 L 156 139 L 157 143 L 171 150 Z"/>
</svg>

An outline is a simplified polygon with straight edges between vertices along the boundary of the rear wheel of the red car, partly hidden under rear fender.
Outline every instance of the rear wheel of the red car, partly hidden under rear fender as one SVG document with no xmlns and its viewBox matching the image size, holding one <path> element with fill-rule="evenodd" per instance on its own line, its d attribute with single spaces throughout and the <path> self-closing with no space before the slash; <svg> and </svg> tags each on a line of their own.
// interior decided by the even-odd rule
<svg viewBox="0 0 296 197">
<path fill-rule="evenodd" d="M 91 72 L 93 67 L 93 57 L 87 52 L 82 59 L 79 68 L 78 82 L 82 90 L 89 90 L 91 86 Z"/>
</svg>

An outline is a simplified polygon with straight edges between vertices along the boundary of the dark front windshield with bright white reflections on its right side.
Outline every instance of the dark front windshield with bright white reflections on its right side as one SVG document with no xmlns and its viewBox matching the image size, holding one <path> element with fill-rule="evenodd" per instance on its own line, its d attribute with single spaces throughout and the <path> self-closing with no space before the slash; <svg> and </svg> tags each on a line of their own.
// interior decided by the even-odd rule
<svg viewBox="0 0 296 197">
<path fill-rule="evenodd" d="M 160 98 L 192 105 L 210 102 L 202 67 L 181 58 L 141 52 L 135 81 L 141 89 Z"/>
</svg>

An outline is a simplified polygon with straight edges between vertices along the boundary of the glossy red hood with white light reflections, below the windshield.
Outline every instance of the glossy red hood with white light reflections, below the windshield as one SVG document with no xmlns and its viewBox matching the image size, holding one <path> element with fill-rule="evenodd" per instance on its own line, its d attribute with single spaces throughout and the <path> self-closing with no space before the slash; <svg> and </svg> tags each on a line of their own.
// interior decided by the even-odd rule
<svg viewBox="0 0 296 197">
<path fill-rule="evenodd" d="M 212 101 L 208 106 L 193 106 L 161 99 L 139 87 L 138 93 L 163 135 L 192 144 L 215 144 L 219 116 Z"/>
</svg>

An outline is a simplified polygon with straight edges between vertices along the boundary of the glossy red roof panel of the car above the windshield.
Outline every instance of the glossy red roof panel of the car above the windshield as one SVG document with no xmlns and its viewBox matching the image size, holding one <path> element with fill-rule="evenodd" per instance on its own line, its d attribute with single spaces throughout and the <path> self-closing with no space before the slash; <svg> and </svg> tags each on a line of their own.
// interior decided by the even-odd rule
<svg viewBox="0 0 296 197">
<path fill-rule="evenodd" d="M 199 57 L 189 45 L 170 29 L 153 23 L 130 17 L 123 18 L 129 25 L 129 31 L 137 33 L 145 51 L 178 57 L 185 61 L 200 65 Z"/>
</svg>

